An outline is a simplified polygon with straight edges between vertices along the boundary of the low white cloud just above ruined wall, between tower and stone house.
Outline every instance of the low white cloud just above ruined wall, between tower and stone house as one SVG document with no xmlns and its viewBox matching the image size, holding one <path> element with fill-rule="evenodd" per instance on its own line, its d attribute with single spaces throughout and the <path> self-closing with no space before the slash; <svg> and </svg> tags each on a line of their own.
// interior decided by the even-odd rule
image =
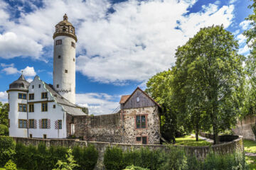
<svg viewBox="0 0 256 170">
<path fill-rule="evenodd" d="M 76 94 L 76 103 L 79 106 L 87 107 L 89 114 L 104 115 L 113 113 L 114 109 L 119 106 L 115 100 L 119 96 L 110 96 L 108 94 Z"/>
</svg>

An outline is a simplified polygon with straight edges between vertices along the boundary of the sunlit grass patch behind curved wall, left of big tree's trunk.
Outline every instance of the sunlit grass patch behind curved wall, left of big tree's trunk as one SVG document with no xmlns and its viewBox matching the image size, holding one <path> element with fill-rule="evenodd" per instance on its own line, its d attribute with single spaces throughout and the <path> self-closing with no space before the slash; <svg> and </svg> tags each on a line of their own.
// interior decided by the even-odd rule
<svg viewBox="0 0 256 170">
<path fill-rule="evenodd" d="M 206 142 L 205 140 L 201 140 L 201 139 L 199 139 L 196 142 L 196 137 L 193 137 L 191 135 L 186 135 L 183 137 L 176 137 L 175 139 L 176 139 L 175 145 L 186 145 L 186 146 L 192 146 L 192 147 L 211 145 L 210 142 Z"/>
</svg>

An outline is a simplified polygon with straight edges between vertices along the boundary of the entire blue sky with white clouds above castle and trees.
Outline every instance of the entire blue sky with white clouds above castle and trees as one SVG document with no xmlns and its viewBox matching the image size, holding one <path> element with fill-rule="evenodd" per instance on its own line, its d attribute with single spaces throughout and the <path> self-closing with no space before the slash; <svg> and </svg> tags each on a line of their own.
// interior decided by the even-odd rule
<svg viewBox="0 0 256 170">
<path fill-rule="evenodd" d="M 0 101 L 21 70 L 53 83 L 54 26 L 67 13 L 76 28 L 76 101 L 111 113 L 119 98 L 175 62 L 178 45 L 205 26 L 223 24 L 247 55 L 250 0 L 0 0 Z"/>
</svg>

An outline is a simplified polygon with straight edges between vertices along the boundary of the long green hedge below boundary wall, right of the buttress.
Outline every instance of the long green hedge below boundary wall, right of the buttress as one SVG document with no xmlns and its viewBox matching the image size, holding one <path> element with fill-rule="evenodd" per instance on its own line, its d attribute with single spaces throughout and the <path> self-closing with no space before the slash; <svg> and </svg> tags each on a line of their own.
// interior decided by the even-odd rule
<svg viewBox="0 0 256 170">
<path fill-rule="evenodd" d="M 171 147 L 168 152 L 148 148 L 131 149 L 125 152 L 119 147 L 107 147 L 104 154 L 107 170 L 124 169 L 127 166 L 139 166 L 151 170 L 244 170 L 247 169 L 244 153 L 208 154 L 204 161 L 191 157 L 183 149 Z"/>
</svg>

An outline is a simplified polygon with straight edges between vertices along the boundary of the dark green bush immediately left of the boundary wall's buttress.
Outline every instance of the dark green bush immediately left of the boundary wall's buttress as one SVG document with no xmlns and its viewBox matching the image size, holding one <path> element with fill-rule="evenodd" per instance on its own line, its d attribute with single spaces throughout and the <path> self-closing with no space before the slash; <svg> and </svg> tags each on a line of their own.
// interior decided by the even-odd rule
<svg viewBox="0 0 256 170">
<path fill-rule="evenodd" d="M 95 168 L 97 164 L 97 159 L 99 157 L 99 153 L 94 145 L 89 145 L 88 147 L 74 147 L 73 155 L 75 161 L 80 165 L 75 169 L 78 170 L 92 170 Z"/>
</svg>

